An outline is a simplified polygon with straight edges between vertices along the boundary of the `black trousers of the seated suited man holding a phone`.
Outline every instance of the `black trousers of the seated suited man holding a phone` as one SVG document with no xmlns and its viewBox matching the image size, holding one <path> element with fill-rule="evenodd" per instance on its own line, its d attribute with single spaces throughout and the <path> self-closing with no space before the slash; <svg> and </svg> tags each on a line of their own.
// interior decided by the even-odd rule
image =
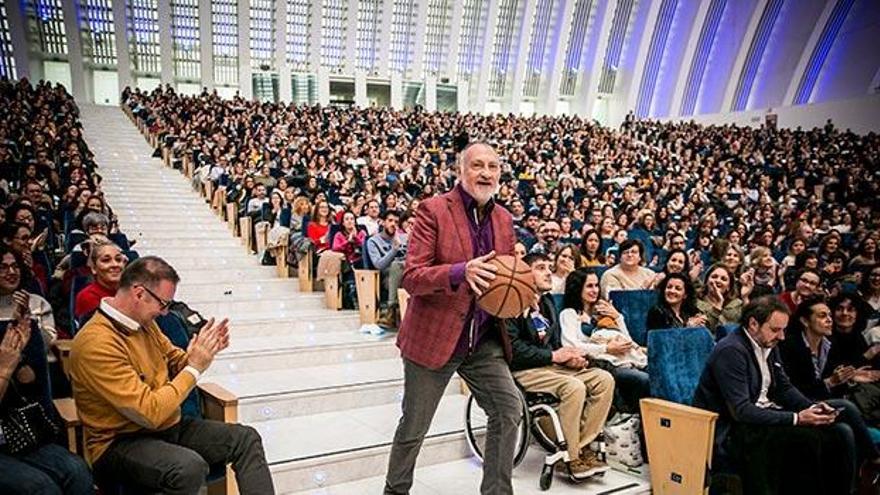
<svg viewBox="0 0 880 495">
<path fill-rule="evenodd" d="M 877 457 L 865 422 L 847 400 L 829 426 L 734 425 L 730 454 L 747 494 L 852 493 L 858 466 Z"/>
</svg>

